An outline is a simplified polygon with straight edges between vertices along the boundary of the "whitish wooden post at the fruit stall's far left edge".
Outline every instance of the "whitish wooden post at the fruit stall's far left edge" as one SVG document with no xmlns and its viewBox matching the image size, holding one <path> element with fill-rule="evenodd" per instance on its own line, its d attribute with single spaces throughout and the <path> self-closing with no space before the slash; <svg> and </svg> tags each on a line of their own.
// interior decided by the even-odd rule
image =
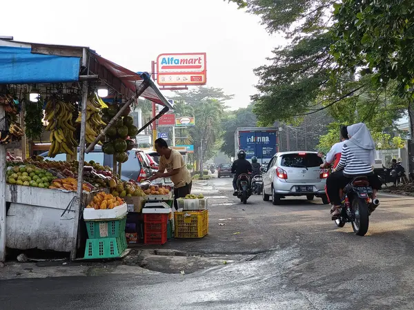
<svg viewBox="0 0 414 310">
<path fill-rule="evenodd" d="M 5 86 L 0 86 L 0 94 Z M 0 119 L 6 115 L 0 106 Z M 6 129 L 6 122 L 0 123 L 0 130 Z M 6 146 L 0 145 L 0 262 L 6 260 Z"/>
</svg>

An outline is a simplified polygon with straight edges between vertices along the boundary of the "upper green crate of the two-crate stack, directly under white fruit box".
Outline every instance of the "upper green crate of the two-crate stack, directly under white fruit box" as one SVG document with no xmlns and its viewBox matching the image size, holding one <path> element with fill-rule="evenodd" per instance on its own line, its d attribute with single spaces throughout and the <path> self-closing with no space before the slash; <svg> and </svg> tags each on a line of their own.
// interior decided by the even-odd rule
<svg viewBox="0 0 414 310">
<path fill-rule="evenodd" d="M 125 234 L 126 216 L 119 220 L 85 221 L 89 239 L 119 238 Z"/>
</svg>

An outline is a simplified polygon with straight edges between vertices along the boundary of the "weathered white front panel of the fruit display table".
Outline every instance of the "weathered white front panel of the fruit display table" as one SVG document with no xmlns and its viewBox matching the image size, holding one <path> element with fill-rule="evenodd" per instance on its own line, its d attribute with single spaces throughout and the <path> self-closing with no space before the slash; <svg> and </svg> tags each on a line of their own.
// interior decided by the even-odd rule
<svg viewBox="0 0 414 310">
<path fill-rule="evenodd" d="M 6 186 L 6 246 L 71 252 L 75 231 L 76 192 L 31 186 Z M 83 204 L 92 199 L 83 194 Z"/>
</svg>

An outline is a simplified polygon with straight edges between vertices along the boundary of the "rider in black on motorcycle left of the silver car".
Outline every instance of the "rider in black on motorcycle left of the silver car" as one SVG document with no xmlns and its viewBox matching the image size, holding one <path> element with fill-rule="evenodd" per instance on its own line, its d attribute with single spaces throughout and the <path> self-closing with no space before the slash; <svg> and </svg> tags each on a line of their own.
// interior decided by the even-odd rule
<svg viewBox="0 0 414 310">
<path fill-rule="evenodd" d="M 253 172 L 252 165 L 246 159 L 246 151 L 237 152 L 237 159 L 231 166 L 233 177 L 233 196 L 237 196 L 244 204 L 247 203 L 248 197 L 252 194 L 249 173 Z"/>
</svg>

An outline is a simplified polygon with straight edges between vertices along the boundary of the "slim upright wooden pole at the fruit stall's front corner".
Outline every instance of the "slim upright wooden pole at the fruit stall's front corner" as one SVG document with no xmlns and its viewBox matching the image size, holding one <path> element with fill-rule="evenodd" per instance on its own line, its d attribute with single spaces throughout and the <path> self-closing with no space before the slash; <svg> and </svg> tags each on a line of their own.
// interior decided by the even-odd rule
<svg viewBox="0 0 414 310">
<path fill-rule="evenodd" d="M 82 66 L 87 66 L 88 51 L 83 48 Z M 72 233 L 72 251 L 70 251 L 70 260 L 75 260 L 77 251 L 77 235 L 79 229 L 80 213 L 82 211 L 83 197 L 83 164 L 85 159 L 85 142 L 86 142 L 86 102 L 88 101 L 88 81 L 83 81 L 82 85 L 82 102 L 81 102 L 81 139 L 79 142 L 79 167 L 78 167 L 78 184 L 77 184 L 77 203 L 75 204 L 75 219 Z"/>
</svg>

